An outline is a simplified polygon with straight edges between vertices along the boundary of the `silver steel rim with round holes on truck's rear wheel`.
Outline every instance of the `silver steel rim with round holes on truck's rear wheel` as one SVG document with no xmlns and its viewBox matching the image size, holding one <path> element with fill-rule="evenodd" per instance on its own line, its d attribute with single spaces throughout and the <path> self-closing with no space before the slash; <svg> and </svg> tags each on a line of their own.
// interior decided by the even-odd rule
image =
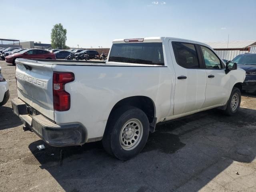
<svg viewBox="0 0 256 192">
<path fill-rule="evenodd" d="M 143 125 L 138 119 L 128 120 L 121 129 L 119 141 L 124 150 L 133 150 L 138 146 L 143 135 Z"/>
</svg>

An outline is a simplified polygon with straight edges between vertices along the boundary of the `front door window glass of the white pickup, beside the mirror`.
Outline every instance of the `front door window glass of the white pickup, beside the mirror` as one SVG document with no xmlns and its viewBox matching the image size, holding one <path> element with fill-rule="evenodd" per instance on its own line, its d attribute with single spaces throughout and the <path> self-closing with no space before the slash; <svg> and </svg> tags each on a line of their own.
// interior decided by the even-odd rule
<svg viewBox="0 0 256 192">
<path fill-rule="evenodd" d="M 203 56 L 206 69 L 221 69 L 222 64 L 220 59 L 214 54 L 212 50 L 207 47 L 200 46 Z"/>
</svg>

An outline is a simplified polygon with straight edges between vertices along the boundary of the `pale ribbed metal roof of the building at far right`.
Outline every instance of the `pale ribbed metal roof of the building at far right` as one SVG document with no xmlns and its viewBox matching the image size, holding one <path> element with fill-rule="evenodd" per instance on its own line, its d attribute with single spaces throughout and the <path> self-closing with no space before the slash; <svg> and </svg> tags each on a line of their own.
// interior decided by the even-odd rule
<svg viewBox="0 0 256 192">
<path fill-rule="evenodd" d="M 252 41 L 222 41 L 222 42 L 205 42 L 213 49 L 242 49 L 248 46 L 256 45 L 256 40 Z"/>
</svg>

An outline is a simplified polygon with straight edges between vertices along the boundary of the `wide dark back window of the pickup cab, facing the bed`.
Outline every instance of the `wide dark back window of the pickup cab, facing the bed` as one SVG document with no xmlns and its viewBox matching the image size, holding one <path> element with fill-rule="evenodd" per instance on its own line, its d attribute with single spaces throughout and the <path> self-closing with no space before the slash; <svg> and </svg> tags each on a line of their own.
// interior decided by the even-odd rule
<svg viewBox="0 0 256 192">
<path fill-rule="evenodd" d="M 162 43 L 113 44 L 108 61 L 164 65 Z"/>
</svg>

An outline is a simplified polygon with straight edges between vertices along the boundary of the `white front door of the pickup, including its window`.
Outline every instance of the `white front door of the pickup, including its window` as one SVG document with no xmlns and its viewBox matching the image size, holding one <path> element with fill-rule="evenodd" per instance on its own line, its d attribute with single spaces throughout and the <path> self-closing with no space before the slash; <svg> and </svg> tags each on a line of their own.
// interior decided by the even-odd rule
<svg viewBox="0 0 256 192">
<path fill-rule="evenodd" d="M 225 66 L 212 50 L 205 46 L 199 46 L 199 48 L 207 76 L 205 102 L 202 107 L 224 104 L 230 90 L 229 76 L 225 73 Z"/>
</svg>

